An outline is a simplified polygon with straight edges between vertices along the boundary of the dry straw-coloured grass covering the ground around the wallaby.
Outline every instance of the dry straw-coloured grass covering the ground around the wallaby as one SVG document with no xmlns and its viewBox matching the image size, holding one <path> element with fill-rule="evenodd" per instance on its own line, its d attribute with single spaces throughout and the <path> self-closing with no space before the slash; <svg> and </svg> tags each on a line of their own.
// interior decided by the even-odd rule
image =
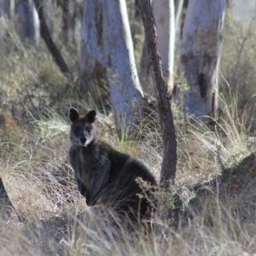
<svg viewBox="0 0 256 256">
<path fill-rule="evenodd" d="M 217 154 L 221 154 L 227 168 L 233 168 L 249 153 L 246 144 L 243 145 L 243 130 L 234 130 L 233 122 L 238 120 L 230 115 L 230 109 L 219 120 L 218 129 L 191 125 L 187 135 L 178 138 L 178 187 L 189 188 L 224 171 Z M 48 119 L 34 119 L 30 133 L 21 126 L 20 134 L 2 139 L 1 177 L 16 212 L 8 221 L 1 221 L 1 254 L 253 255 L 256 250 L 253 189 L 247 197 L 235 193 L 221 199 L 216 190 L 208 188 L 207 196 L 204 193 L 199 197 L 202 203 L 190 202 L 189 211 L 194 218 L 183 216 L 178 230 L 172 230 L 159 218 L 151 220 L 151 231 L 125 230 L 113 212 L 99 209 L 101 214 L 96 214 L 97 209 L 86 208 L 67 162 L 67 119 L 51 113 Z M 150 126 L 150 133 L 145 128 L 141 140 L 131 142 L 119 141 L 111 119 L 101 113 L 96 125 L 100 137 L 143 160 L 159 175 L 157 126 L 155 131 Z M 186 200 L 186 195 L 183 199 Z M 242 215 L 234 214 L 237 209 Z"/>
</svg>

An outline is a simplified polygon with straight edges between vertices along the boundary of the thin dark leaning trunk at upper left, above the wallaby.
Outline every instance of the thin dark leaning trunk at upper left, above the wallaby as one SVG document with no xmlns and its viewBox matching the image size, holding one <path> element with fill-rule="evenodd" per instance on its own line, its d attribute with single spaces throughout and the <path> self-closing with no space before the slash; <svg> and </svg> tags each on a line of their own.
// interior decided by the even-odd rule
<svg viewBox="0 0 256 256">
<path fill-rule="evenodd" d="M 67 78 L 71 78 L 71 73 L 69 71 L 69 68 L 67 67 L 66 62 L 61 56 L 61 52 L 55 45 L 55 42 L 51 38 L 51 35 L 49 33 L 49 29 L 47 27 L 46 21 L 44 19 L 44 9 L 43 9 L 43 3 L 41 3 L 40 0 L 33 0 L 35 7 L 38 11 L 38 17 L 40 20 L 40 33 L 41 37 L 44 39 L 44 42 L 49 49 L 50 54 L 53 56 L 55 63 L 58 67 L 60 67 L 61 72 L 66 76 Z"/>
</svg>

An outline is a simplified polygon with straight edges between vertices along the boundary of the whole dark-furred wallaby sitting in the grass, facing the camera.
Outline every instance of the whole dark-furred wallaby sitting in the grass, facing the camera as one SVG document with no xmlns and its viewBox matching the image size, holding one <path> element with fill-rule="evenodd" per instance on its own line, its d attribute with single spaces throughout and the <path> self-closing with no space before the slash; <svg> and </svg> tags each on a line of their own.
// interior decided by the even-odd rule
<svg viewBox="0 0 256 256">
<path fill-rule="evenodd" d="M 136 178 L 152 185 L 156 185 L 155 179 L 141 162 L 97 139 L 95 116 L 94 110 L 83 117 L 74 108 L 69 112 L 72 122 L 69 158 L 79 191 L 88 206 L 102 203 L 131 219 L 144 217 L 148 201 L 138 198 L 137 194 L 143 195 L 143 190 Z"/>
</svg>

